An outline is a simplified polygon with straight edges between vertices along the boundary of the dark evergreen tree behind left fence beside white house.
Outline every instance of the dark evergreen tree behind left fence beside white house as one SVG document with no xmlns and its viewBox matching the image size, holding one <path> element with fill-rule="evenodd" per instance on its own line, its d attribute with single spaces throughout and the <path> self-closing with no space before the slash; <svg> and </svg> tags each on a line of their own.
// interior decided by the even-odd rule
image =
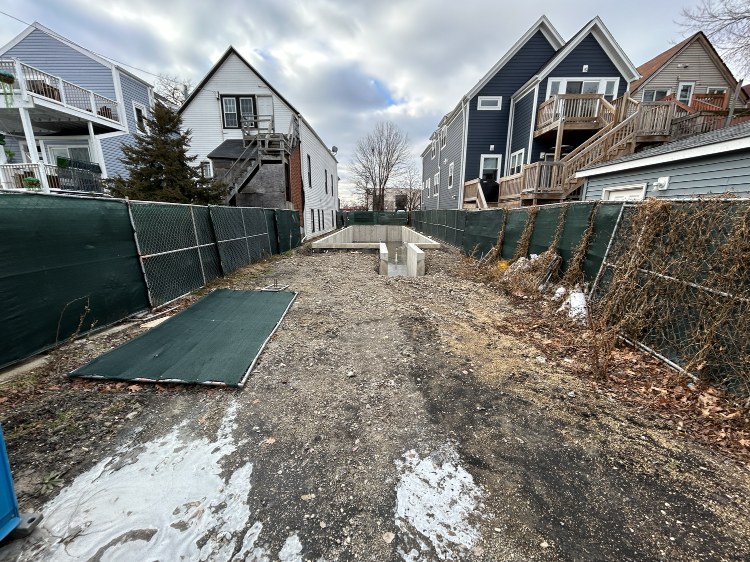
<svg viewBox="0 0 750 562">
<path fill-rule="evenodd" d="M 136 201 L 222 202 L 226 185 L 203 178 L 199 167 L 190 166 L 196 156 L 187 155 L 191 131 L 180 132 L 181 116 L 157 102 L 152 118 L 145 122 L 146 132 L 135 135 L 135 144 L 122 146 L 121 162 L 130 175 L 110 180 L 110 193 Z"/>
</svg>

